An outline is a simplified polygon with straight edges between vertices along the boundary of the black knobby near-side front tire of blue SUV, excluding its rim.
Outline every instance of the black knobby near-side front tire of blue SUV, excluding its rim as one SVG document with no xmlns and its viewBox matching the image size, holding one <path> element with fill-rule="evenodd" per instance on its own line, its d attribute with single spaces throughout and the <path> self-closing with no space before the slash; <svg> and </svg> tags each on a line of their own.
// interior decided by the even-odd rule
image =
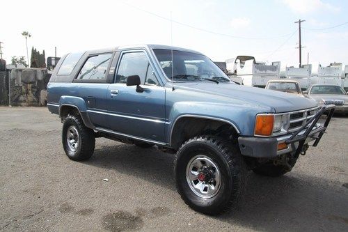
<svg viewBox="0 0 348 232">
<path fill-rule="evenodd" d="M 186 169 L 196 155 L 211 158 L 221 172 L 219 192 L 211 198 L 197 196 L 187 181 Z M 216 215 L 235 208 L 246 183 L 246 164 L 237 145 L 220 137 L 202 135 L 184 142 L 175 156 L 174 173 L 177 192 L 193 210 Z"/>
</svg>

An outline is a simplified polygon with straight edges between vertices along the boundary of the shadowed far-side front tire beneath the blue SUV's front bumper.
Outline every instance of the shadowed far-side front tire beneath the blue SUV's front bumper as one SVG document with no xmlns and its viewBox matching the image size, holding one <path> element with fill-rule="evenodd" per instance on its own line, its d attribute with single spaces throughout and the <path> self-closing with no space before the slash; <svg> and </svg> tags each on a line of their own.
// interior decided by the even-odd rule
<svg viewBox="0 0 348 232">
<path fill-rule="evenodd" d="M 292 160 L 290 160 L 289 164 L 291 167 L 294 167 L 296 160 L 297 158 L 292 158 Z M 289 171 L 280 165 L 274 165 L 273 161 L 269 161 L 253 169 L 253 172 L 260 176 L 279 177 Z"/>
</svg>

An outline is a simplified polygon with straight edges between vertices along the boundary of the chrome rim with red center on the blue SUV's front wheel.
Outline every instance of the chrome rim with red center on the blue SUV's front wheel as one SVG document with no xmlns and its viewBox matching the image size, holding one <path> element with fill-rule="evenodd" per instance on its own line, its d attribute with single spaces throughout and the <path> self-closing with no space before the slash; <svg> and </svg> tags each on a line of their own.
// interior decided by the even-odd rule
<svg viewBox="0 0 348 232">
<path fill-rule="evenodd" d="M 192 192 L 202 198 L 212 198 L 220 190 L 219 168 L 206 155 L 196 155 L 189 161 L 186 178 Z"/>
</svg>

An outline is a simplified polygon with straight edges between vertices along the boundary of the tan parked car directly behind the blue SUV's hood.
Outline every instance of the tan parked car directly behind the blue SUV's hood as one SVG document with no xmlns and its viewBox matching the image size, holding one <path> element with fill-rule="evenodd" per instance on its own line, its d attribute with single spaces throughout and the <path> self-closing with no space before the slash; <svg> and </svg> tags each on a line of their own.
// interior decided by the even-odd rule
<svg viewBox="0 0 348 232">
<path fill-rule="evenodd" d="M 267 82 L 267 89 L 280 91 L 284 93 L 296 94 L 299 97 L 304 97 L 301 91 L 299 82 L 290 79 L 273 79 Z"/>
</svg>

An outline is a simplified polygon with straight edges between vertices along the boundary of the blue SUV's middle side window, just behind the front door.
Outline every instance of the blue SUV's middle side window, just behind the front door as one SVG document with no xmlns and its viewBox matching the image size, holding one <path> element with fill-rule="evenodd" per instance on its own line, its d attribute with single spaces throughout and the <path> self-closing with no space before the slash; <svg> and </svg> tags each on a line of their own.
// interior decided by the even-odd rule
<svg viewBox="0 0 348 232">
<path fill-rule="evenodd" d="M 91 56 L 82 66 L 77 79 L 105 79 L 111 54 Z"/>
</svg>

